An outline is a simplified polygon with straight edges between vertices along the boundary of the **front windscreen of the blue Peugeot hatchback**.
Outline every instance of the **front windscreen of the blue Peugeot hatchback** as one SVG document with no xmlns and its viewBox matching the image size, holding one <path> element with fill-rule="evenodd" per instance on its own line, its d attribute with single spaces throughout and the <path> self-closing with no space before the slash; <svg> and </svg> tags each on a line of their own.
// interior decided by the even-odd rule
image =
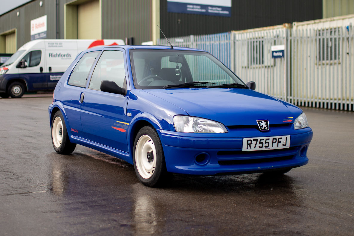
<svg viewBox="0 0 354 236">
<path fill-rule="evenodd" d="M 135 49 L 131 50 L 131 57 L 134 85 L 137 89 L 162 89 L 184 83 L 188 83 L 190 87 L 244 84 L 207 52 Z"/>
</svg>

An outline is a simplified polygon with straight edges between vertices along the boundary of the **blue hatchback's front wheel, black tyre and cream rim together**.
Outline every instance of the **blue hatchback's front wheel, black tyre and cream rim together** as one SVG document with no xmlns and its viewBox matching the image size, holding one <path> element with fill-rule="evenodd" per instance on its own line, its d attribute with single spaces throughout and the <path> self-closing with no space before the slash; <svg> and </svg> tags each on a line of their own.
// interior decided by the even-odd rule
<svg viewBox="0 0 354 236">
<path fill-rule="evenodd" d="M 144 185 L 156 187 L 170 179 L 159 135 L 150 126 L 143 127 L 135 137 L 133 162 L 135 173 Z"/>
</svg>

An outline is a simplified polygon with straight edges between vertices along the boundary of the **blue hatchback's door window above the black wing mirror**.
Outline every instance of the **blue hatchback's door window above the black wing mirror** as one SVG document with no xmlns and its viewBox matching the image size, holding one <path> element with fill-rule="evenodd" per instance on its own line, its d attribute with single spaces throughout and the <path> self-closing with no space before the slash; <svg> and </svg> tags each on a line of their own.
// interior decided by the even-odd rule
<svg viewBox="0 0 354 236">
<path fill-rule="evenodd" d="M 123 52 L 103 51 L 93 71 L 89 88 L 101 90 L 102 80 L 110 80 L 123 87 L 125 81 Z"/>
</svg>

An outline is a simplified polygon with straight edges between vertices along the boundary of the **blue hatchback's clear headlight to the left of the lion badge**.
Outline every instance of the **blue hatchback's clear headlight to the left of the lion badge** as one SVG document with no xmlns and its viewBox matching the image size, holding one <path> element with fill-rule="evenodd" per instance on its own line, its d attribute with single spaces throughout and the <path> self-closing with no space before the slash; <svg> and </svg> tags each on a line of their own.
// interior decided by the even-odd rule
<svg viewBox="0 0 354 236">
<path fill-rule="evenodd" d="M 173 126 L 177 132 L 184 133 L 227 133 L 223 124 L 193 116 L 175 116 Z"/>
</svg>

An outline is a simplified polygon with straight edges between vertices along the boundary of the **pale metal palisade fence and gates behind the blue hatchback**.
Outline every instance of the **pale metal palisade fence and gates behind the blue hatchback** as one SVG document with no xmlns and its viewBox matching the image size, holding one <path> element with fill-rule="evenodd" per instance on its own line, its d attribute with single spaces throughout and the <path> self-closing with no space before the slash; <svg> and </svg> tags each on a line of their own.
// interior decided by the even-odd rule
<svg viewBox="0 0 354 236">
<path fill-rule="evenodd" d="M 245 82 L 255 81 L 257 91 L 298 106 L 354 111 L 352 24 L 306 29 L 284 24 L 170 41 L 209 51 Z M 273 45 L 285 45 L 285 56 L 272 58 Z"/>
</svg>

